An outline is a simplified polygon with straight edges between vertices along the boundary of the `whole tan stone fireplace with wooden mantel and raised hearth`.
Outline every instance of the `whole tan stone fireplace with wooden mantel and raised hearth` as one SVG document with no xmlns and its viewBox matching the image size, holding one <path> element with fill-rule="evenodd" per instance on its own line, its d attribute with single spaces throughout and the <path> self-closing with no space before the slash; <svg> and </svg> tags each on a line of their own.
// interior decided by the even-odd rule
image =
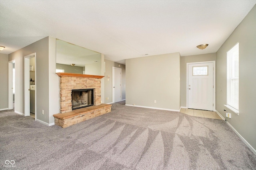
<svg viewBox="0 0 256 170">
<path fill-rule="evenodd" d="M 53 115 L 55 125 L 65 128 L 111 111 L 111 104 L 101 104 L 100 79 L 104 76 L 56 74 L 60 76 L 60 113 Z"/>
</svg>

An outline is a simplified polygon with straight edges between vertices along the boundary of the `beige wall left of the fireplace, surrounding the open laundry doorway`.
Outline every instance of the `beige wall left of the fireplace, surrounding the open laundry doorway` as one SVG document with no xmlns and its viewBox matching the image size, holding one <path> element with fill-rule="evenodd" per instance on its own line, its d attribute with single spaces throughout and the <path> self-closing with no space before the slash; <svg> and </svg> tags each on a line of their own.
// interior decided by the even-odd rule
<svg viewBox="0 0 256 170">
<path fill-rule="evenodd" d="M 15 111 L 24 113 L 24 56 L 36 53 L 36 119 L 45 123 L 49 122 L 48 39 L 45 37 L 9 54 L 9 61 L 15 60 Z M 42 110 L 44 115 L 40 114 Z"/>
</svg>

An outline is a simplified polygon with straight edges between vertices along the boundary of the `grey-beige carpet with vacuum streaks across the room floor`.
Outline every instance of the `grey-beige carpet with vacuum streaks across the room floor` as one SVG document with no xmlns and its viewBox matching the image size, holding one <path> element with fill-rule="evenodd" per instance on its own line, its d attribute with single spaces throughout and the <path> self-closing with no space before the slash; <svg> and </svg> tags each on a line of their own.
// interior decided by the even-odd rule
<svg viewBox="0 0 256 170">
<path fill-rule="evenodd" d="M 0 169 L 256 169 L 256 155 L 224 120 L 124 104 L 64 129 L 0 111 Z"/>
</svg>

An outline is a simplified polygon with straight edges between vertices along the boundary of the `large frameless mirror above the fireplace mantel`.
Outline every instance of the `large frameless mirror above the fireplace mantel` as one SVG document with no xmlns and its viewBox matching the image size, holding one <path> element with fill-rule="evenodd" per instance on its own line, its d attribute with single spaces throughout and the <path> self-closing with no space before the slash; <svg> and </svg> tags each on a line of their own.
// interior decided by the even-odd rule
<svg viewBox="0 0 256 170">
<path fill-rule="evenodd" d="M 101 53 L 56 39 L 56 72 L 101 75 Z"/>
</svg>

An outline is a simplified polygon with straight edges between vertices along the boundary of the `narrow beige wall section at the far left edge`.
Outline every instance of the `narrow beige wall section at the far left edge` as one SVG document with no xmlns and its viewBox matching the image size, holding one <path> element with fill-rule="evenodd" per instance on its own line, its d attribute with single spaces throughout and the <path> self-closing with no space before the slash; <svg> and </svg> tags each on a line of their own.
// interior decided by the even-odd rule
<svg viewBox="0 0 256 170">
<path fill-rule="evenodd" d="M 8 54 L 0 53 L 0 110 L 8 109 Z"/>
</svg>

